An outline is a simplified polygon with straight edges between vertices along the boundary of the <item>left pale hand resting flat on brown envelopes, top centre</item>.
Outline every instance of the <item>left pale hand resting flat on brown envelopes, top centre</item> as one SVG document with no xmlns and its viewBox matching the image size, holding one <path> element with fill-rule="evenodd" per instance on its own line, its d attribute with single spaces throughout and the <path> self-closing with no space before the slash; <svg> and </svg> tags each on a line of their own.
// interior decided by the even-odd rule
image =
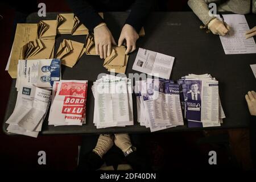
<svg viewBox="0 0 256 182">
<path fill-rule="evenodd" d="M 112 44 L 115 46 L 115 40 L 105 23 L 99 24 L 94 28 L 94 40 L 97 55 L 100 55 L 101 59 L 105 59 L 110 55 Z"/>
</svg>

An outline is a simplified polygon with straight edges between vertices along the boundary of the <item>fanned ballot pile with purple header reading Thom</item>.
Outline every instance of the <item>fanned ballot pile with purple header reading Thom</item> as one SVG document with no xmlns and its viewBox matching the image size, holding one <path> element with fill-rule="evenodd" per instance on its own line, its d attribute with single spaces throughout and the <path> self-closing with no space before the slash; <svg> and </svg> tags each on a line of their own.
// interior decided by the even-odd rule
<svg viewBox="0 0 256 182">
<path fill-rule="evenodd" d="M 135 81 L 137 120 L 151 132 L 182 126 L 179 84 L 164 79 Z"/>
</svg>

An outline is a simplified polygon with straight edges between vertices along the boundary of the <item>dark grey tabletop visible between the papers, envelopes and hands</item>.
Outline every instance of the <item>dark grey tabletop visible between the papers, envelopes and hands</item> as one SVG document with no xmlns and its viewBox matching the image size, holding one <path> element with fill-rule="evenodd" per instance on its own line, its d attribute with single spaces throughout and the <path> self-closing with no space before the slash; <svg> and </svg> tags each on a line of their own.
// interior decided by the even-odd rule
<svg viewBox="0 0 256 182">
<path fill-rule="evenodd" d="M 27 18 L 27 23 L 38 23 L 42 19 L 55 19 L 56 13 L 47 14 L 46 18 L 39 18 L 36 13 Z M 128 13 L 104 13 L 116 42 L 118 41 L 122 25 Z M 245 15 L 250 27 L 256 26 L 256 15 Z M 164 53 L 175 57 L 171 80 L 178 80 L 189 73 L 209 73 L 219 81 L 219 92 L 226 118 L 221 127 L 205 129 L 231 129 L 249 126 L 249 111 L 245 101 L 245 94 L 249 90 L 256 90 L 255 77 L 250 64 L 256 64 L 256 54 L 225 55 L 220 38 L 206 34 L 199 29 L 201 22 L 192 12 L 152 13 L 144 29 L 146 36 L 137 41 L 137 50 L 130 54 L 126 74 L 137 73 L 132 70 L 138 47 Z M 63 39 L 71 39 L 84 43 L 86 36 L 57 35 L 55 50 Z M 255 39 L 255 38 L 254 38 Z M 101 133 L 148 133 L 149 129 L 137 122 L 137 107 L 133 96 L 134 126 L 110 127 L 96 129 L 93 125 L 94 98 L 90 87 L 99 73 L 109 73 L 102 66 L 99 56 L 83 55 L 73 68 L 62 67 L 63 80 L 88 80 L 88 94 L 86 101 L 86 125 L 83 126 L 48 126 L 48 115 L 43 123 L 41 134 L 101 134 Z M 17 92 L 15 81 L 11 85 L 9 102 L 6 107 L 3 131 L 6 134 L 5 121 L 13 113 Z M 160 132 L 193 131 L 203 128 L 188 128 L 178 126 Z M 9 134 L 10 135 L 10 134 Z"/>
</svg>

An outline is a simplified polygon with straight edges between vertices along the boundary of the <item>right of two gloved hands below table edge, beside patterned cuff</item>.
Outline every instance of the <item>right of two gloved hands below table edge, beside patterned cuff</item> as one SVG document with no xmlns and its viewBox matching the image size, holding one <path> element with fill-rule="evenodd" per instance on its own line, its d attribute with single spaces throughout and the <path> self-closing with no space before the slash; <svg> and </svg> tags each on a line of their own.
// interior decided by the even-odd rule
<svg viewBox="0 0 256 182">
<path fill-rule="evenodd" d="M 128 134 L 115 134 L 115 145 L 123 152 L 131 148 L 131 140 Z"/>
</svg>

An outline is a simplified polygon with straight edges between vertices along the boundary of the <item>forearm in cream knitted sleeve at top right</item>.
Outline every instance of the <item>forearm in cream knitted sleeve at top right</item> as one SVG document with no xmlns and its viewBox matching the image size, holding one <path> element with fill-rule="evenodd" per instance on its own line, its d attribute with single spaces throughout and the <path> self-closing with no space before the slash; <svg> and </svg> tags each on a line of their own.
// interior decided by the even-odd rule
<svg viewBox="0 0 256 182">
<path fill-rule="evenodd" d="M 204 24 L 207 24 L 213 18 L 209 16 L 208 4 L 204 0 L 189 0 L 188 6 Z"/>
</svg>

